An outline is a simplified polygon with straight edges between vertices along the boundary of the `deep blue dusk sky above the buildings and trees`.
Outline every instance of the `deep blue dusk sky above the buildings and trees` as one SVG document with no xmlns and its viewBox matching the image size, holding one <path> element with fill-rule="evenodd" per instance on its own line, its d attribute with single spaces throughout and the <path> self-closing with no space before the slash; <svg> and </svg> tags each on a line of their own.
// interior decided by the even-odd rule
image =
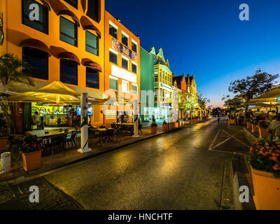
<svg viewBox="0 0 280 224">
<path fill-rule="evenodd" d="M 247 3 L 250 20 L 239 20 Z M 141 38 L 163 49 L 176 76 L 193 74 L 210 105 L 222 106 L 231 80 L 260 68 L 280 73 L 279 0 L 105 0 L 106 10 Z"/>
</svg>

